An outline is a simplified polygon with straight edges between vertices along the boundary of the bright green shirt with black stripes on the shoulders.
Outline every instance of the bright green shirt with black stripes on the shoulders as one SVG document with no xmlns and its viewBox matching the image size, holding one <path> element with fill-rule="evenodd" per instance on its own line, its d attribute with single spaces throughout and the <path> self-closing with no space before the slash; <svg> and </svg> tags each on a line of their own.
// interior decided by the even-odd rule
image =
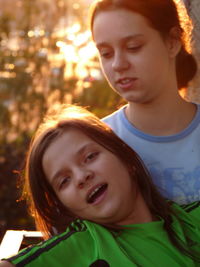
<svg viewBox="0 0 200 267">
<path fill-rule="evenodd" d="M 184 233 L 189 235 L 194 241 L 190 245 L 200 254 L 200 206 L 197 203 L 190 204 L 190 213 L 176 205 L 174 209 L 182 220 L 180 225 L 173 218 L 176 233 L 184 242 Z M 187 210 L 186 206 L 184 209 Z M 170 243 L 162 220 L 127 225 L 118 234 L 88 221 L 74 223 L 71 228 L 74 230 L 68 228 L 63 234 L 27 248 L 9 260 L 18 267 L 200 266 L 200 262 L 193 262 Z M 104 260 L 107 265 L 105 262 L 104 265 L 92 265 L 97 260 Z"/>
</svg>

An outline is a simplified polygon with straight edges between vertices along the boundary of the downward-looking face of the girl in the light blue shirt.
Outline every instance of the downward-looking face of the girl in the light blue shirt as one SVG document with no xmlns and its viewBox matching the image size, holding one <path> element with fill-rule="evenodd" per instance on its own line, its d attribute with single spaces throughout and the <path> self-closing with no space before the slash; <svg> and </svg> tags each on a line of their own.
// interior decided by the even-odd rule
<svg viewBox="0 0 200 267">
<path fill-rule="evenodd" d="M 172 37 L 164 40 L 140 14 L 125 9 L 98 13 L 93 38 L 105 77 L 127 101 L 165 98 L 171 85 L 176 85 L 180 42 Z"/>
</svg>

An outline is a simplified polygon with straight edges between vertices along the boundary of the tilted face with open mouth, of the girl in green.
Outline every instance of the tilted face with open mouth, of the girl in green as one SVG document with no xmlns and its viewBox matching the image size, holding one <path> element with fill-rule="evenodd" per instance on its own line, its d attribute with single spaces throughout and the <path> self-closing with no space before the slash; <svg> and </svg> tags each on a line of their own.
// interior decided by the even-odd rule
<svg viewBox="0 0 200 267">
<path fill-rule="evenodd" d="M 116 224 L 137 217 L 136 189 L 127 168 L 82 132 L 70 129 L 53 141 L 43 168 L 60 201 L 77 216 Z"/>
</svg>

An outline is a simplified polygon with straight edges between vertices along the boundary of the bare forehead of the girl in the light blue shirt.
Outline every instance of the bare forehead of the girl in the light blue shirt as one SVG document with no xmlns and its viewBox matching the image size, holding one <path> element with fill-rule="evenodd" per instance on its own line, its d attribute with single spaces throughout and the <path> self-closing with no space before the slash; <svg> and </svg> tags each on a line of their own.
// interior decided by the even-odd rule
<svg viewBox="0 0 200 267">
<path fill-rule="evenodd" d="M 104 40 L 125 38 L 130 34 L 145 34 L 152 30 L 142 15 L 126 9 L 100 11 L 93 23 L 93 38 L 98 44 Z"/>
</svg>

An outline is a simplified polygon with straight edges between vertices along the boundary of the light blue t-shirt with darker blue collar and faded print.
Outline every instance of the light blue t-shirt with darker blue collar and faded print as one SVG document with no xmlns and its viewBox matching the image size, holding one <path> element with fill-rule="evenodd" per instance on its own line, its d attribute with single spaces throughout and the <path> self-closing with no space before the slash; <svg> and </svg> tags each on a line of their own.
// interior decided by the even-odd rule
<svg viewBox="0 0 200 267">
<path fill-rule="evenodd" d="M 190 125 L 170 136 L 136 129 L 126 118 L 125 108 L 103 121 L 140 155 L 160 192 L 179 204 L 200 200 L 200 106 Z"/>
</svg>

